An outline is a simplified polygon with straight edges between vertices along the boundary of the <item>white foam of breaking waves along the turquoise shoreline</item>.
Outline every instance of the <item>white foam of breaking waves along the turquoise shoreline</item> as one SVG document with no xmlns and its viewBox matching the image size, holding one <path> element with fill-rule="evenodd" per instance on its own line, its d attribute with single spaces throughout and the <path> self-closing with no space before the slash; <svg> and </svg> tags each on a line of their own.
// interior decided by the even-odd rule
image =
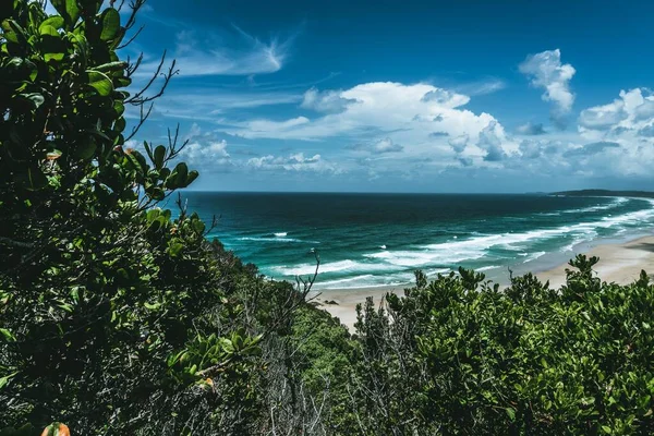
<svg viewBox="0 0 654 436">
<path fill-rule="evenodd" d="M 613 202 L 622 204 L 628 199 Z M 361 259 L 344 259 L 322 264 L 318 271 L 328 274 L 334 280 L 322 282 L 319 288 L 360 288 L 368 286 L 388 286 L 412 281 L 413 269 L 426 269 L 427 274 L 447 272 L 445 268 L 463 262 L 486 257 L 489 262 L 495 258 L 499 261 L 498 253 L 493 249 L 509 250 L 522 256 L 523 262 L 532 262 L 546 254 L 545 251 L 532 252 L 534 243 L 546 240 L 565 239 L 568 245 L 560 247 L 561 252 L 568 252 L 580 243 L 595 239 L 601 230 L 614 230 L 610 233 L 621 233 L 629 228 L 650 226 L 654 222 L 654 201 L 646 199 L 651 207 L 647 209 L 626 213 L 615 216 L 559 226 L 549 229 L 534 229 L 522 232 L 480 233 L 473 232 L 469 239 L 451 239 L 447 242 L 407 247 L 402 250 L 388 250 L 379 245 L 379 251 L 367 253 Z M 597 206 L 605 207 L 605 206 Z M 605 234 L 603 231 L 602 234 Z M 307 242 L 290 238 L 259 238 L 250 240 L 270 240 L 288 242 Z M 559 245 L 560 246 L 560 245 Z M 530 250 L 531 249 L 531 250 Z M 504 258 L 504 256 L 502 256 Z M 489 263 L 488 262 L 488 263 Z M 436 268 L 432 269 L 431 268 Z M 497 265 L 482 266 L 477 270 L 497 268 Z M 271 268 L 275 275 L 282 277 L 306 276 L 315 271 L 315 264 L 305 263 L 299 265 L 284 265 Z M 340 276 L 340 277 L 339 277 Z M 330 278 L 331 278 L 330 277 Z"/>
</svg>

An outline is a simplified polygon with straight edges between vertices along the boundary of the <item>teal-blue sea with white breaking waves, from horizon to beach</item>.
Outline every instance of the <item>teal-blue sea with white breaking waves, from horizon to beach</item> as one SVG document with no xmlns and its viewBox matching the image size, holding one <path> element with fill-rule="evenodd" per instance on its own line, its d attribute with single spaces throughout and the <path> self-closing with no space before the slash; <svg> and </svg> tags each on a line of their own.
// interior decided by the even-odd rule
<svg viewBox="0 0 654 436">
<path fill-rule="evenodd" d="M 626 197 L 473 194 L 185 192 L 189 209 L 262 274 L 294 281 L 315 269 L 316 289 L 399 286 L 413 270 L 458 266 L 507 281 L 543 270 L 602 240 L 654 231 L 654 202 Z"/>
</svg>

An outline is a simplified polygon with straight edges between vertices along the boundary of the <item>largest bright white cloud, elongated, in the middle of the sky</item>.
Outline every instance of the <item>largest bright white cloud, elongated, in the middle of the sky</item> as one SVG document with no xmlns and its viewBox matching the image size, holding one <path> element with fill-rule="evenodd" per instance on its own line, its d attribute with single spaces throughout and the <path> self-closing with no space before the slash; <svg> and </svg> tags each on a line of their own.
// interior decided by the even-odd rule
<svg viewBox="0 0 654 436">
<path fill-rule="evenodd" d="M 344 105 L 341 112 L 312 119 L 296 117 L 281 121 L 238 121 L 232 123 L 228 133 L 245 138 L 304 141 L 347 136 L 359 140 L 358 144 L 367 144 L 382 136 L 392 140 L 393 144 L 402 144 L 404 152 L 423 156 L 425 153 L 449 150 L 448 137 L 461 135 L 469 137 L 467 153 L 470 156 L 481 158 L 488 154 L 488 148 L 495 152 L 511 147 L 510 138 L 493 116 L 486 112 L 477 114 L 462 108 L 470 101 L 470 97 L 452 90 L 424 83 L 404 85 L 374 82 L 335 93 L 339 99 L 355 102 Z M 328 95 L 330 100 L 335 98 L 331 94 Z M 497 135 L 493 146 L 487 145 L 487 138 L 480 136 L 491 123 L 494 123 L 492 130 Z M 484 141 L 482 145 L 485 148 L 477 146 L 480 140 Z M 517 148 L 518 145 L 514 144 L 513 147 Z"/>
</svg>

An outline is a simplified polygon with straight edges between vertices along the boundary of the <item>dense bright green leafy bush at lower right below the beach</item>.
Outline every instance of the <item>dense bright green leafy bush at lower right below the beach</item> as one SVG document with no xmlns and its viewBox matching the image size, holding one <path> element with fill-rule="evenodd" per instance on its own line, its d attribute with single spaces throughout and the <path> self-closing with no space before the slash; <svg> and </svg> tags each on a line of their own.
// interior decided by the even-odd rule
<svg viewBox="0 0 654 436">
<path fill-rule="evenodd" d="M 652 434 L 654 287 L 601 282 L 597 261 L 578 256 L 559 290 L 461 269 L 419 272 L 387 313 L 368 302 L 360 414 L 388 434 Z"/>
</svg>

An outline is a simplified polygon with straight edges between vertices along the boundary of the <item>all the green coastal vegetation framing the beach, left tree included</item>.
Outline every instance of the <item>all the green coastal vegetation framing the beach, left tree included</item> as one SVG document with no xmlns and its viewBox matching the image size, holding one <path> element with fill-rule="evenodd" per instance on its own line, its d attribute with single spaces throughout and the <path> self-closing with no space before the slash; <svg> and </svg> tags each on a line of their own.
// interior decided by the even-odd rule
<svg viewBox="0 0 654 436">
<path fill-rule="evenodd" d="M 198 177 L 185 144 L 128 141 L 174 63 L 132 89 L 144 2 L 119 3 L 0 4 L 0 435 L 654 432 L 645 272 L 417 271 L 350 332 L 307 299 L 315 275 L 266 279 L 166 208 Z"/>
</svg>

